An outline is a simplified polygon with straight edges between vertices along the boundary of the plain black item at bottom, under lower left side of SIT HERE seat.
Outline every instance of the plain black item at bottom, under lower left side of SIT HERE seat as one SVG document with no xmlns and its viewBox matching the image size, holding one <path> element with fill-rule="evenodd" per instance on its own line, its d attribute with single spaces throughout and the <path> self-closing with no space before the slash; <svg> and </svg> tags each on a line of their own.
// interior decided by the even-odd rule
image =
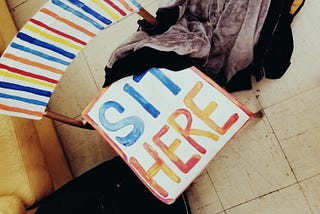
<svg viewBox="0 0 320 214">
<path fill-rule="evenodd" d="M 190 214 L 185 195 L 171 205 L 159 201 L 115 157 L 62 186 L 41 201 L 36 214 Z"/>
</svg>

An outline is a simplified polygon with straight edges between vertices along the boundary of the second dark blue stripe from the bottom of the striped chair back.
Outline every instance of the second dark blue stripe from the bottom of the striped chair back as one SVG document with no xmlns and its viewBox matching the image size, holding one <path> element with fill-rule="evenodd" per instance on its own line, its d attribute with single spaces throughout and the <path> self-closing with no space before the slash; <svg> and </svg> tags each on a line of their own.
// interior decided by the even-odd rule
<svg viewBox="0 0 320 214">
<path fill-rule="evenodd" d="M 31 37 L 31 36 L 29 36 L 29 35 L 27 35 L 25 33 L 22 33 L 22 32 L 19 32 L 17 34 L 17 38 L 19 38 L 19 39 L 21 39 L 21 40 L 23 40 L 25 42 L 29 42 L 29 43 L 31 43 L 33 45 L 36 45 L 36 46 L 39 46 L 39 47 L 46 48 L 48 50 L 54 51 L 54 52 L 56 52 L 58 54 L 61 54 L 61 55 L 65 56 L 65 57 L 67 57 L 69 59 L 74 59 L 76 57 L 76 55 L 74 55 L 73 53 L 65 51 L 62 48 L 59 48 L 59 47 L 57 47 L 55 45 L 52 45 L 50 43 L 47 43 L 47 42 L 41 41 L 39 39 L 36 39 L 34 37 Z"/>
</svg>

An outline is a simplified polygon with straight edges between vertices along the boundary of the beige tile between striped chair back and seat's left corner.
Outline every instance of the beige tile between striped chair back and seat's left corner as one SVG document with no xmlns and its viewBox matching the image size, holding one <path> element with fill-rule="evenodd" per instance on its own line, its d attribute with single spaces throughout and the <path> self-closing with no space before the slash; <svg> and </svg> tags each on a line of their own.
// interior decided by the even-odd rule
<svg viewBox="0 0 320 214">
<path fill-rule="evenodd" d="M 98 89 L 82 53 L 62 76 L 49 102 L 51 111 L 79 116 L 97 95 Z"/>
</svg>

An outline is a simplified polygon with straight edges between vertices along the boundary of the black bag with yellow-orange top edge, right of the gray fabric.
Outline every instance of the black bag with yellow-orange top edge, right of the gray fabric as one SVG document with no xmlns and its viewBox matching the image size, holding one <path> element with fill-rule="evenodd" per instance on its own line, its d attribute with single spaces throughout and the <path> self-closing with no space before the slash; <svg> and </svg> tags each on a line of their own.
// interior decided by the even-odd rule
<svg viewBox="0 0 320 214">
<path fill-rule="evenodd" d="M 285 74 L 294 48 L 291 22 L 304 2 L 271 0 L 259 41 L 254 47 L 254 60 L 225 85 L 228 92 L 251 89 L 251 75 L 260 81 L 264 77 L 279 79 Z"/>
</svg>

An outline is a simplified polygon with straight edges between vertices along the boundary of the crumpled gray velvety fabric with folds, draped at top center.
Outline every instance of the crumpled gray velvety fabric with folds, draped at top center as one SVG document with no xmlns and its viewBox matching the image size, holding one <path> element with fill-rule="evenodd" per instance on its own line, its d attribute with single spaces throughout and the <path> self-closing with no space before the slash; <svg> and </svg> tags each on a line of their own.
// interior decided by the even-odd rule
<svg viewBox="0 0 320 214">
<path fill-rule="evenodd" d="M 175 51 L 201 59 L 201 70 L 226 80 L 253 60 L 271 0 L 160 0 L 159 8 L 179 7 L 179 20 L 160 35 L 137 31 L 111 55 L 107 66 L 142 47 Z"/>
</svg>

